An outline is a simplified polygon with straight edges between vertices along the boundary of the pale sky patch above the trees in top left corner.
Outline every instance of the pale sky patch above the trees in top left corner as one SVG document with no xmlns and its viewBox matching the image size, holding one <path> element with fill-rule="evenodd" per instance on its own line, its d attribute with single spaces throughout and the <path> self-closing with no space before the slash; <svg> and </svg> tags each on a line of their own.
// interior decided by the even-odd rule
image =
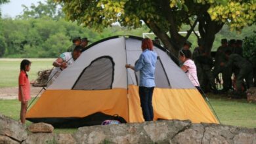
<svg viewBox="0 0 256 144">
<path fill-rule="evenodd" d="M 14 18 L 17 15 L 22 14 L 22 5 L 30 7 L 32 3 L 37 5 L 38 1 L 43 2 L 45 0 L 10 0 L 9 3 L 0 5 L 2 16 L 11 16 Z"/>
</svg>

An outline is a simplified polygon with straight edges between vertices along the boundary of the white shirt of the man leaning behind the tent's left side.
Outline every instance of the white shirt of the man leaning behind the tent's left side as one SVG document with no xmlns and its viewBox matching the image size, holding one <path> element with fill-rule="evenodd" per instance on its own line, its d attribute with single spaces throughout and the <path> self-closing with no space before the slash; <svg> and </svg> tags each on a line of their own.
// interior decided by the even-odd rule
<svg viewBox="0 0 256 144">
<path fill-rule="evenodd" d="M 64 52 L 63 54 L 60 54 L 59 58 L 62 58 L 63 62 L 66 62 L 69 65 L 72 65 L 74 63 L 74 59 L 72 57 L 71 52 Z M 47 87 L 49 87 L 55 79 L 57 79 L 58 75 L 60 75 L 62 69 L 60 67 L 54 67 L 54 69 L 51 71 L 51 74 L 48 77 Z"/>
</svg>

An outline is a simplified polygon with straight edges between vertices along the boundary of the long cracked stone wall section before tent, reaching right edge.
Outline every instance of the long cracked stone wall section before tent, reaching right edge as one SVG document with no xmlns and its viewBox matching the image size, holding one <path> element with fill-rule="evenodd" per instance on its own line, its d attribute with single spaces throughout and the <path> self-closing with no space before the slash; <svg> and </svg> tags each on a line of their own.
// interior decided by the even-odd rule
<svg viewBox="0 0 256 144">
<path fill-rule="evenodd" d="M 220 124 L 192 124 L 185 120 L 89 126 L 74 134 L 77 143 L 249 143 L 256 144 L 255 128 Z"/>
</svg>

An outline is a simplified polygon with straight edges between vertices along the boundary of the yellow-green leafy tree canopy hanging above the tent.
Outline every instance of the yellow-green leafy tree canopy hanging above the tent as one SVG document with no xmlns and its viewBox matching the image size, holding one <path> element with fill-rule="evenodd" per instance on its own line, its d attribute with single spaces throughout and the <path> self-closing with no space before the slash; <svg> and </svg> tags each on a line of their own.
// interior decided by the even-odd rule
<svg viewBox="0 0 256 144">
<path fill-rule="evenodd" d="M 164 31 L 173 27 L 163 3 L 167 1 L 171 13 L 175 14 L 175 24 L 179 29 L 182 24 L 195 20 L 202 10 L 211 16 L 211 20 L 225 23 L 231 29 L 241 31 L 245 26 L 255 24 L 255 0 L 55 0 L 63 2 L 63 10 L 68 20 L 77 21 L 83 26 L 101 30 L 119 22 L 121 26 L 137 28 L 150 21 L 156 22 Z M 190 18 L 190 19 L 188 19 Z"/>
</svg>

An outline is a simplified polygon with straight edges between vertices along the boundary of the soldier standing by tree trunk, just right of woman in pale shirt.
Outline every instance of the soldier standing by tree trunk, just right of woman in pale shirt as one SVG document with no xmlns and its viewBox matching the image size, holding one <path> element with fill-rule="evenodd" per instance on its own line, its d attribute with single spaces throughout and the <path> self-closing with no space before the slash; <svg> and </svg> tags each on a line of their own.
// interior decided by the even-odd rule
<svg viewBox="0 0 256 144">
<path fill-rule="evenodd" d="M 213 67 L 213 60 L 211 56 L 207 56 L 203 49 L 202 39 L 198 39 L 198 47 L 195 48 L 192 59 L 196 64 L 198 72 L 198 81 L 204 92 L 213 90 L 216 92 L 215 79 L 211 68 Z"/>
</svg>

